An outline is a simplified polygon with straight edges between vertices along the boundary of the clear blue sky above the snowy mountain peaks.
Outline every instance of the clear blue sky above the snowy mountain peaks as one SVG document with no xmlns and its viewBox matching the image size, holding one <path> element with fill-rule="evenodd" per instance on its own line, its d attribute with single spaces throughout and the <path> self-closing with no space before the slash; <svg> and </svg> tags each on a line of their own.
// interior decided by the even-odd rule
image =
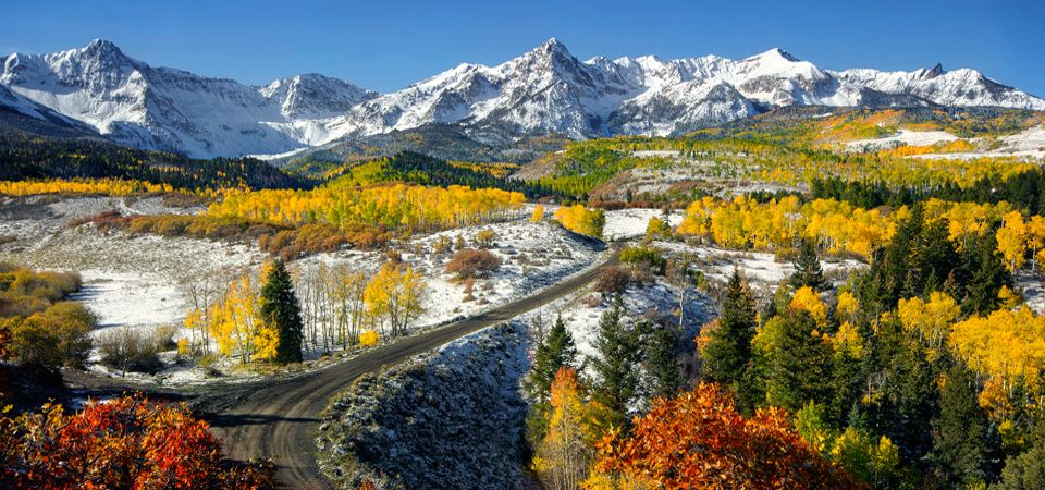
<svg viewBox="0 0 1045 490">
<path fill-rule="evenodd" d="M 971 66 L 1045 96 L 1045 2 L 13 0 L 0 52 L 100 37 L 152 65 L 261 84 L 319 72 L 379 91 L 557 37 L 602 54 L 742 58 L 780 47 L 826 69 Z"/>
</svg>

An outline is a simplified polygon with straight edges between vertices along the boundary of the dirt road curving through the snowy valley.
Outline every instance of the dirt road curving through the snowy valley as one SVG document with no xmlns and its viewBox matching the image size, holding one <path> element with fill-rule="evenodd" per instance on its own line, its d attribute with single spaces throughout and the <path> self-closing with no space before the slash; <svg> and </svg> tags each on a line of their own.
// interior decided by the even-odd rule
<svg viewBox="0 0 1045 490">
<path fill-rule="evenodd" d="M 207 418 L 233 460 L 270 458 L 280 485 L 293 489 L 333 488 L 316 465 L 316 430 L 328 401 L 366 372 L 394 365 L 459 336 L 515 318 L 561 298 L 592 282 L 606 266 L 617 262 L 613 250 L 598 267 L 517 302 L 450 323 L 356 358 L 293 378 L 231 390 L 225 408 Z M 221 394 L 216 395 L 220 399 Z"/>
</svg>

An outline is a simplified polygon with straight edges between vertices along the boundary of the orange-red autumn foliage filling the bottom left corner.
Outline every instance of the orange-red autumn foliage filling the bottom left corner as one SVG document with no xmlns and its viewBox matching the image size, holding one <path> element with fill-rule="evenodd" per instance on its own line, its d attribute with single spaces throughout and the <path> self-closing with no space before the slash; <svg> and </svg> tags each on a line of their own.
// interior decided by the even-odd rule
<svg viewBox="0 0 1045 490">
<path fill-rule="evenodd" d="M 0 480 L 14 489 L 274 487 L 271 463 L 226 466 L 221 443 L 181 405 L 125 396 L 66 414 L 0 416 Z"/>
</svg>

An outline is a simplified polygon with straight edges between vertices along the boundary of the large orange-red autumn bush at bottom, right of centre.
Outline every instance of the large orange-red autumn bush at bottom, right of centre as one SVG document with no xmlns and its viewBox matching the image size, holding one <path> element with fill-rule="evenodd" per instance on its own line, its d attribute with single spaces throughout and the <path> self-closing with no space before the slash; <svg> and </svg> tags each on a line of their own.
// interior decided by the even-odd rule
<svg viewBox="0 0 1045 490">
<path fill-rule="evenodd" d="M 785 411 L 745 418 L 716 384 L 656 401 L 629 436 L 606 436 L 599 453 L 589 487 L 610 478 L 663 489 L 865 488 L 810 448 Z"/>
</svg>

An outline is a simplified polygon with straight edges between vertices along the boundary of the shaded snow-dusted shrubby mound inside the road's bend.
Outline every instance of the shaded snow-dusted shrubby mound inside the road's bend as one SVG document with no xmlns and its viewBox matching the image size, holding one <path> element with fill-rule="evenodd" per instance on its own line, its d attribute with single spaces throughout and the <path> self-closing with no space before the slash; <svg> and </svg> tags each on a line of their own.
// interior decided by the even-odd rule
<svg viewBox="0 0 1045 490">
<path fill-rule="evenodd" d="M 339 488 L 525 489 L 525 327 L 485 329 L 336 395 L 317 438 Z"/>
</svg>

